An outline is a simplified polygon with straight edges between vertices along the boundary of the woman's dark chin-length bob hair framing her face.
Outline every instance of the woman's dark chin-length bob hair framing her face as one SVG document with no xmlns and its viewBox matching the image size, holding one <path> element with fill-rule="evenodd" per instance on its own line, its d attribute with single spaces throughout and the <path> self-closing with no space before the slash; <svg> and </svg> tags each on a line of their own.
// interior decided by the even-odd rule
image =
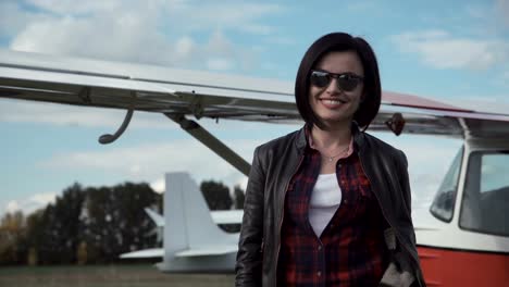
<svg viewBox="0 0 509 287">
<path fill-rule="evenodd" d="M 360 37 L 346 33 L 331 33 L 314 41 L 302 58 L 295 80 L 295 100 L 300 116 L 308 124 L 324 127 L 322 121 L 314 114 L 309 103 L 309 76 L 320 59 L 328 52 L 355 51 L 364 68 L 364 86 L 359 109 L 353 114 L 353 121 L 359 127 L 368 128 L 376 116 L 382 98 L 378 64 L 371 46 Z"/>
</svg>

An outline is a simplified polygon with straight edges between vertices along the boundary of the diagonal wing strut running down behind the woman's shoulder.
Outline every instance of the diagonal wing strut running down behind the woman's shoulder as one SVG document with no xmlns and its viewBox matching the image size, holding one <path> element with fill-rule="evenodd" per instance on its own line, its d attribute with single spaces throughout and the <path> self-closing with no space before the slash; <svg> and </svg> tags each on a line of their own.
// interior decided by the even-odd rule
<svg viewBox="0 0 509 287">
<path fill-rule="evenodd" d="M 239 172 L 246 176 L 249 175 L 251 165 L 235 151 L 224 145 L 221 140 L 210 134 L 207 129 L 200 126 L 197 122 L 187 120 L 184 115 L 175 115 L 171 113 L 164 113 L 164 115 L 179 124 L 182 129 L 186 130 L 194 138 L 206 145 L 209 149 L 220 155 L 223 160 L 227 161 Z"/>
</svg>

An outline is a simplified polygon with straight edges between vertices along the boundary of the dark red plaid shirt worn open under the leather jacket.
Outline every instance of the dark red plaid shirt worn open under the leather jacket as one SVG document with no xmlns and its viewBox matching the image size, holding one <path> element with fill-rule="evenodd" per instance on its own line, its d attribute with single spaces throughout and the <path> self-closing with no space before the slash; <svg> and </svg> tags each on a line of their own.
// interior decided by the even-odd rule
<svg viewBox="0 0 509 287">
<path fill-rule="evenodd" d="M 278 285 L 377 286 L 382 279 L 387 266 L 383 236 L 386 223 L 359 158 L 352 151 L 338 160 L 336 175 L 342 202 L 318 238 L 308 211 L 321 155 L 307 148 L 286 192 Z"/>
</svg>

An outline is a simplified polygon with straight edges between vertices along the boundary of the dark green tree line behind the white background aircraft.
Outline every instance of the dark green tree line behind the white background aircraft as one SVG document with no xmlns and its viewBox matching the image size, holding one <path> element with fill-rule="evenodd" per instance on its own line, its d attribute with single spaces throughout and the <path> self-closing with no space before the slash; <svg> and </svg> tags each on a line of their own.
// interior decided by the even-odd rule
<svg viewBox="0 0 509 287">
<path fill-rule="evenodd" d="M 200 189 L 211 210 L 241 209 L 244 191 L 206 180 Z M 144 208 L 163 212 L 162 196 L 148 184 L 65 188 L 54 203 L 0 220 L 0 265 L 102 264 L 125 252 L 160 245 Z M 239 226 L 220 226 L 238 232 Z"/>
</svg>

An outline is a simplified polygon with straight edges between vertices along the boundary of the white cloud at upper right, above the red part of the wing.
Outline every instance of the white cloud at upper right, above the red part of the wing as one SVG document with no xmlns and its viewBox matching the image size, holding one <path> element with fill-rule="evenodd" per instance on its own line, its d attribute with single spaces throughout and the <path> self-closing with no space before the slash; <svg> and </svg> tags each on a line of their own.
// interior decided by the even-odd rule
<svg viewBox="0 0 509 287">
<path fill-rule="evenodd" d="M 459 38 L 445 30 L 404 33 L 392 40 L 405 52 L 417 53 L 437 68 L 487 70 L 509 59 L 509 42 Z"/>
</svg>

